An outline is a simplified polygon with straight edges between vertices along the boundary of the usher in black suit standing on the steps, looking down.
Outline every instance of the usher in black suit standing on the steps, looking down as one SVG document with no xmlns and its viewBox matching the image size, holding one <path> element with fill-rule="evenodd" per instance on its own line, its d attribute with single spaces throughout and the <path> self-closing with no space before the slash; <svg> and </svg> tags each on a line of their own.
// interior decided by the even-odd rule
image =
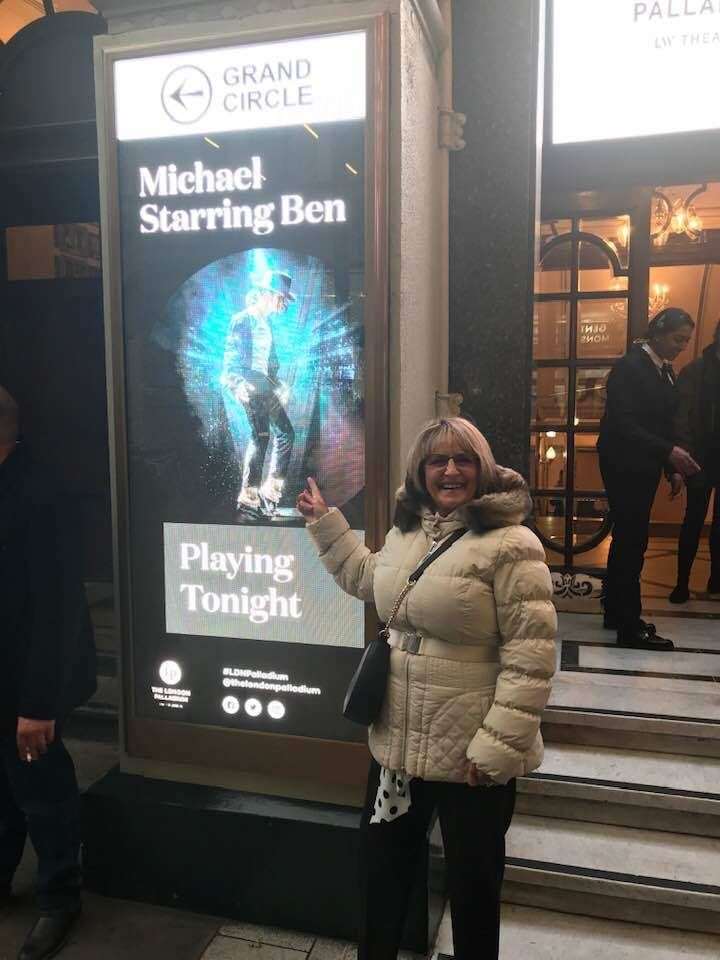
<svg viewBox="0 0 720 960">
<path fill-rule="evenodd" d="M 622 647 L 672 650 L 641 618 L 640 574 L 650 512 L 660 476 L 677 496 L 699 467 L 674 441 L 676 408 L 672 361 L 687 347 L 692 317 L 669 307 L 653 317 L 645 343 L 634 344 L 608 377 L 607 405 L 600 423 L 600 471 L 610 503 L 612 544 L 605 581 L 605 626 L 617 630 Z"/>
</svg>

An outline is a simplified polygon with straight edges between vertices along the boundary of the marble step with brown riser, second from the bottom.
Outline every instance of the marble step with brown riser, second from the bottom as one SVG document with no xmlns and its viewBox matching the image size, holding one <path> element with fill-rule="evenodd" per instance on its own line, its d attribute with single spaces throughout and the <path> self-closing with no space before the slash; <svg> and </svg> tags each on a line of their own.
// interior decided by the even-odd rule
<svg viewBox="0 0 720 960">
<path fill-rule="evenodd" d="M 720 934 L 720 840 L 520 814 L 508 834 L 503 896 L 523 906 Z"/>
</svg>

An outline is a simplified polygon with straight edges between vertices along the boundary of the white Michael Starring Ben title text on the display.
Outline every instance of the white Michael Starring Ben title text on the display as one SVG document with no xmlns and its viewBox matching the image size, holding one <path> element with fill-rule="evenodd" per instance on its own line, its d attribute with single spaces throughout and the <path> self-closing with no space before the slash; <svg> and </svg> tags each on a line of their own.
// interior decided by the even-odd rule
<svg viewBox="0 0 720 960">
<path fill-rule="evenodd" d="M 231 170 L 211 170 L 197 160 L 187 170 L 174 163 L 138 170 L 140 199 L 217 193 L 243 193 L 262 190 L 266 178 L 262 159 L 252 157 L 247 166 Z M 282 226 L 298 224 L 345 223 L 344 200 L 306 200 L 300 194 L 280 197 L 278 203 L 235 204 L 225 196 L 208 207 L 173 208 L 165 204 L 145 203 L 140 207 L 141 234 L 197 233 L 204 230 L 250 230 L 255 236 L 267 236 L 275 229 L 276 215 Z"/>
</svg>

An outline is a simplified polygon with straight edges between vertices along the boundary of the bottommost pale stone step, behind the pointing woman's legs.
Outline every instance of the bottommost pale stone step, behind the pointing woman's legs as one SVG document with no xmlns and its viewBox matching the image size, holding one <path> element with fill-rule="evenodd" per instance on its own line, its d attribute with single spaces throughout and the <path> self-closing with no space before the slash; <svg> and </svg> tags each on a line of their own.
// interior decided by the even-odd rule
<svg viewBox="0 0 720 960">
<path fill-rule="evenodd" d="M 504 904 L 500 960 L 717 960 L 717 937 Z M 449 911 L 437 960 L 453 955 Z"/>
</svg>

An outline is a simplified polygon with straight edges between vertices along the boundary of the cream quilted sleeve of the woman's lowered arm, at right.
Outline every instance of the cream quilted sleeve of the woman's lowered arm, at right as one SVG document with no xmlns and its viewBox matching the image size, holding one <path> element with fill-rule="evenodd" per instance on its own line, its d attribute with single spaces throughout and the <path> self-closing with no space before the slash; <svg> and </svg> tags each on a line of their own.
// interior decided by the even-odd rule
<svg viewBox="0 0 720 960">
<path fill-rule="evenodd" d="M 555 672 L 557 615 L 539 540 L 511 527 L 498 551 L 493 589 L 500 632 L 495 700 L 467 749 L 469 760 L 497 783 L 526 773 Z"/>
</svg>

